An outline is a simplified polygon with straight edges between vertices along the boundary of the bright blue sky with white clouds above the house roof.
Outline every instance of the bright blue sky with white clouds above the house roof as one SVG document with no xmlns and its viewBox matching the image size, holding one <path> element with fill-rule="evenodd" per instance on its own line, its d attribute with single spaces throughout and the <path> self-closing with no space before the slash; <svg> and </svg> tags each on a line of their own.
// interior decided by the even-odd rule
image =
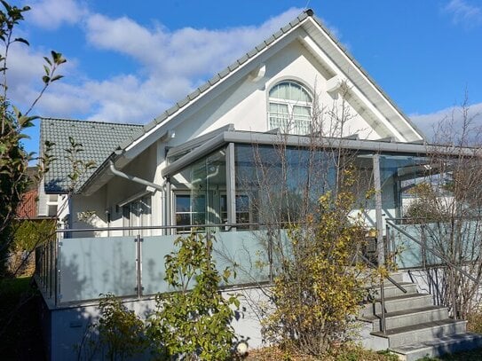
<svg viewBox="0 0 482 361">
<path fill-rule="evenodd" d="M 10 96 L 36 97 L 42 56 L 67 58 L 36 114 L 146 123 L 311 7 L 420 128 L 468 91 L 482 113 L 482 2 L 478 0 L 31 0 L 10 59 Z M 28 151 L 36 151 L 32 129 Z"/>
</svg>

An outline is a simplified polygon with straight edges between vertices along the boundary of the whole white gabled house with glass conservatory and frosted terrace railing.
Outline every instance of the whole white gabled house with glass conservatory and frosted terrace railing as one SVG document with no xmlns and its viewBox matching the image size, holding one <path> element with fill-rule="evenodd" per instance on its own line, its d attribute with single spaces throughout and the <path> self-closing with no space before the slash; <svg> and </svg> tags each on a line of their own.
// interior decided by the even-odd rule
<svg viewBox="0 0 482 361">
<path fill-rule="evenodd" d="M 313 139 L 319 163 L 309 174 Z M 246 252 L 264 251 L 253 241 L 263 232 L 256 224 L 298 209 L 308 177 L 314 197 L 336 183 L 330 154 L 351 154 L 364 172 L 361 188 L 378 191 L 366 216 L 383 255 L 384 218 L 400 216 L 401 182 L 423 174 L 427 161 L 420 130 L 311 10 L 144 127 L 49 118 L 41 125 L 46 140 L 56 144 L 57 161 L 41 184 L 40 213 L 57 214 L 72 230 L 37 260 L 50 357 L 59 359 L 69 357 L 100 293 L 139 311 L 152 307 L 153 295 L 167 290 L 163 255 L 193 225 L 217 232 L 236 263 L 250 264 Z M 65 149 L 75 157 L 67 160 Z M 96 167 L 69 177 L 83 161 Z M 260 179 L 265 164 L 271 168 Z M 281 207 L 273 215 L 274 201 Z M 271 269 L 247 270 L 235 286 L 273 277 Z M 257 325 L 246 318 L 239 327 L 260 344 Z"/>
</svg>

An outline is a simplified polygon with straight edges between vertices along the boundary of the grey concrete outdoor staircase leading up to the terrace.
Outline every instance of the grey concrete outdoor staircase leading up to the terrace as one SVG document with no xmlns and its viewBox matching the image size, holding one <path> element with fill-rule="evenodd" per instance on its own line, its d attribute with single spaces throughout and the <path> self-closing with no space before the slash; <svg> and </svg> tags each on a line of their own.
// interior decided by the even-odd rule
<svg viewBox="0 0 482 361">
<path fill-rule="evenodd" d="M 382 304 L 379 295 L 375 301 L 360 310 L 360 320 L 370 328 L 363 343 L 372 349 L 390 349 L 401 360 L 438 357 L 468 349 L 482 348 L 482 334 L 467 333 L 467 321 L 448 318 L 445 307 L 434 306 L 431 294 L 420 294 L 414 283 L 403 282 L 403 275 L 391 278 L 403 286 L 385 281 L 385 326 L 382 332 Z M 379 291 L 378 286 L 378 291 Z M 374 290 L 376 288 L 374 287 Z"/>
</svg>

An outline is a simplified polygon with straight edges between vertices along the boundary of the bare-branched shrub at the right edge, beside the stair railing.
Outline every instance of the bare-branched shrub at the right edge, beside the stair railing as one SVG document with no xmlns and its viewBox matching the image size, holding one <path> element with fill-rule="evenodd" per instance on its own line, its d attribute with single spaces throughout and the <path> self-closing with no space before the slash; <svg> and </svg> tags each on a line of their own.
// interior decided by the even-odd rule
<svg viewBox="0 0 482 361">
<path fill-rule="evenodd" d="M 415 201 L 405 215 L 427 247 L 421 255 L 436 300 L 462 319 L 481 301 L 482 138 L 474 121 L 466 97 L 439 122 L 435 145 L 427 149 L 427 173 L 412 188 Z"/>
</svg>

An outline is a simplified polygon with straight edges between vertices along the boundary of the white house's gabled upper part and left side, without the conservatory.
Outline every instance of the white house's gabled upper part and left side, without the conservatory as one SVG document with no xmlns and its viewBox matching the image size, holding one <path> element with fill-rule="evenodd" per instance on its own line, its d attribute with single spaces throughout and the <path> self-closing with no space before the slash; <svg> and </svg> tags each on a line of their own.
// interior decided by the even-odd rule
<svg viewBox="0 0 482 361">
<path fill-rule="evenodd" d="M 190 186 L 178 180 L 174 169 L 186 168 L 219 147 L 247 144 L 257 133 L 264 134 L 257 142 L 266 144 L 275 139 L 267 135 L 273 129 L 306 135 L 312 132 L 313 104 L 320 112 L 316 116 L 326 119 L 323 135 L 346 137 L 347 147 L 359 149 L 361 141 L 368 152 L 393 152 L 400 143 L 423 142 L 423 134 L 308 10 L 144 128 L 43 120 L 41 141 L 57 144 L 53 153 L 58 163 L 45 177 L 39 208 L 46 209 L 45 199 L 56 205 L 56 197 L 45 193 L 68 191 L 71 166 L 62 152 L 70 136 L 83 144 L 82 159 L 96 161 L 97 168 L 83 175 L 73 196 L 66 198 L 69 204 L 62 207 L 60 219 L 69 228 L 187 222 L 187 215 L 177 215 L 176 209 L 189 203 L 192 210 L 193 200 L 186 198 Z M 333 116 L 328 114 L 333 111 L 350 114 L 339 129 L 330 129 Z M 407 148 L 411 153 L 422 150 Z M 173 186 L 179 182 L 184 190 Z M 233 187 L 229 191 L 223 197 L 231 205 L 241 194 Z M 217 208 L 218 221 L 235 222 L 233 207 L 205 206 Z M 79 222 L 81 212 L 90 212 L 88 224 Z"/>
</svg>

